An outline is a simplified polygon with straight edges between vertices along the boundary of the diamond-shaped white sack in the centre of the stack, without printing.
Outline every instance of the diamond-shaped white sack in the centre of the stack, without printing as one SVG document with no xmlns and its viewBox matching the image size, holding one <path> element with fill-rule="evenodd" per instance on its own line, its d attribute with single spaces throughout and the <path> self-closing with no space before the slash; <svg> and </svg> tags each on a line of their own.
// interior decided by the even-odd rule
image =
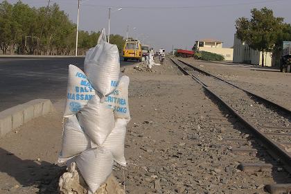
<svg viewBox="0 0 291 194">
<path fill-rule="evenodd" d="M 100 98 L 94 96 L 77 114 L 78 121 L 91 141 L 102 145 L 114 127 L 114 112 Z"/>
</svg>

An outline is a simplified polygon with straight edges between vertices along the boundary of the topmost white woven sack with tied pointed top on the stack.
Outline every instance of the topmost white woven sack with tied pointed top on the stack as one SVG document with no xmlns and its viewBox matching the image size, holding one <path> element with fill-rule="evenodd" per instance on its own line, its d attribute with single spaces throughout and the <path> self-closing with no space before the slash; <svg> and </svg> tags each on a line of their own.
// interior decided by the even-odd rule
<svg viewBox="0 0 291 194">
<path fill-rule="evenodd" d="M 102 30 L 97 45 L 87 52 L 84 69 L 101 98 L 116 89 L 120 72 L 119 53 L 115 44 L 106 42 L 105 29 Z"/>
</svg>

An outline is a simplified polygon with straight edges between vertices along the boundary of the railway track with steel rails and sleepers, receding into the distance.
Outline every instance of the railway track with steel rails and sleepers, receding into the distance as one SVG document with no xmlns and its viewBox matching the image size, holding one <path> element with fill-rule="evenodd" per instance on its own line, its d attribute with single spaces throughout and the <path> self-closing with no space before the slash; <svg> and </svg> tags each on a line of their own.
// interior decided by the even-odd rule
<svg viewBox="0 0 291 194">
<path fill-rule="evenodd" d="M 274 159 L 273 165 L 282 166 L 291 174 L 291 111 L 289 109 L 193 67 L 191 64 L 173 58 L 170 60 L 184 75 L 191 76 L 204 87 L 208 94 L 227 107 L 231 115 L 236 116 L 240 123 L 243 123 L 256 136 L 259 143 L 263 145 L 261 151 L 268 152 Z M 223 121 L 223 119 L 220 118 L 218 121 Z M 232 139 L 232 141 L 241 140 Z M 265 164 L 252 164 L 252 168 L 260 165 L 259 168 L 264 168 Z M 272 184 L 267 185 L 266 189 L 270 193 L 291 193 L 291 184 Z"/>
</svg>

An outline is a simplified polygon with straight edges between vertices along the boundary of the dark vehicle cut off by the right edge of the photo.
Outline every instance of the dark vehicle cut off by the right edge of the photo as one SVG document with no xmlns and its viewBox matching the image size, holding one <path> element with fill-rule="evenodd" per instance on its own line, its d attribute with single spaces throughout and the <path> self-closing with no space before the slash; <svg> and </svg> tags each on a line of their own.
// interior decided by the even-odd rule
<svg viewBox="0 0 291 194">
<path fill-rule="evenodd" d="M 280 71 L 291 73 L 291 42 L 283 41 Z"/>
</svg>

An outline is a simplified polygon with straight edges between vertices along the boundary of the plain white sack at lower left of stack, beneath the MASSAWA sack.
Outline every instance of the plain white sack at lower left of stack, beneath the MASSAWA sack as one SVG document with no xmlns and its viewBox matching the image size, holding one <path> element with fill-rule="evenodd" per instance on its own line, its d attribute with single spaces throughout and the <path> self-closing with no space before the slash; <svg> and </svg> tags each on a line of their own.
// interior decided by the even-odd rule
<svg viewBox="0 0 291 194">
<path fill-rule="evenodd" d="M 64 162 L 75 155 L 80 154 L 91 148 L 89 137 L 82 131 L 76 115 L 69 116 L 67 123 L 64 124 L 62 134 L 62 150 L 58 161 Z"/>
</svg>

